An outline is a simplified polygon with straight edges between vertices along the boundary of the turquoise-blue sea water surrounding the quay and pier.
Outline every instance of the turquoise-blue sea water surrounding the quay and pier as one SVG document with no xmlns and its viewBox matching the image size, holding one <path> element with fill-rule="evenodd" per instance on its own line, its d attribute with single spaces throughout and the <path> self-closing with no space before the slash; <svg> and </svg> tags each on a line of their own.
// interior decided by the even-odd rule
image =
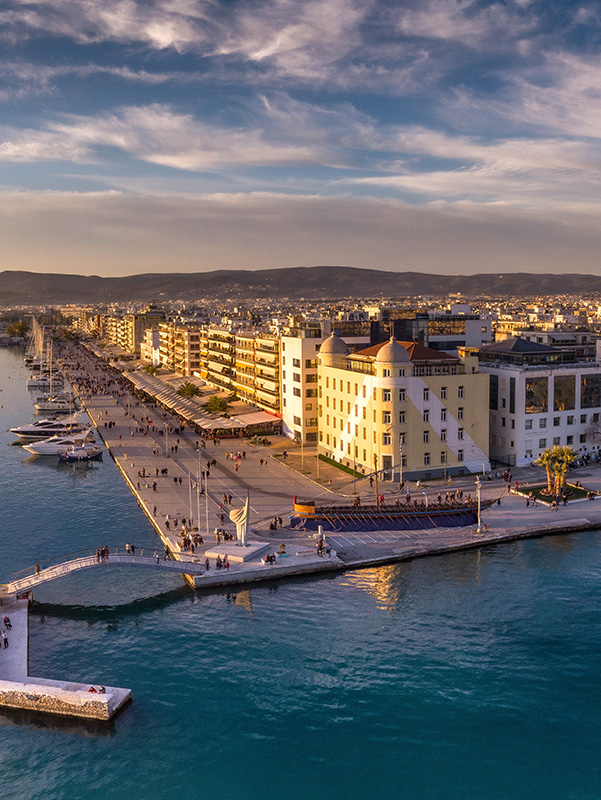
<svg viewBox="0 0 601 800">
<path fill-rule="evenodd" d="M 0 351 L 0 430 L 27 419 Z M 9 378 L 11 378 L 9 380 Z M 0 579 L 155 541 L 109 459 L 0 447 Z M 31 671 L 132 688 L 106 728 L 0 720 L 6 798 L 601 797 L 601 536 L 235 595 L 89 571 L 36 591 Z"/>
</svg>

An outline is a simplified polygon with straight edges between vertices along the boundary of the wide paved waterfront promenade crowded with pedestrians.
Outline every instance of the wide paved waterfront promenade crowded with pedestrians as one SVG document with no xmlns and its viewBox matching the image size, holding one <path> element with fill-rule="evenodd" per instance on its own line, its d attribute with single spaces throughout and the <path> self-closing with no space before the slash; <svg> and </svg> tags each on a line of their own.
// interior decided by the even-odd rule
<svg viewBox="0 0 601 800">
<path fill-rule="evenodd" d="M 271 437 L 269 446 L 240 438 L 203 443 L 189 428 L 181 430 L 181 422 L 165 409 L 137 400 L 127 391 L 125 378 L 116 376 L 82 348 L 72 350 L 69 358 L 76 358 L 80 366 L 67 368 L 68 377 L 163 546 L 177 558 L 182 553 L 182 521 L 186 520 L 188 528 L 199 529 L 203 543 L 194 548 L 193 554 L 186 553 L 186 557 L 192 555 L 193 560 L 202 564 L 208 558 L 209 570 L 190 577 L 194 586 L 373 566 L 512 539 L 601 528 L 601 500 L 572 501 L 557 511 L 542 504 L 527 508 L 525 498 L 508 494 L 507 484 L 502 480 L 483 480 L 483 500 L 500 498 L 501 504 L 495 503 L 483 511 L 484 526 L 480 533 L 475 526 L 326 533 L 332 553 L 330 558 L 321 558 L 316 553 L 314 535 L 289 528 L 294 495 L 336 504 L 349 503 L 356 492 L 366 502 L 373 497 L 367 480 L 354 484 L 349 475 L 335 467 L 323 462 L 318 466 L 314 455 L 301 455 L 299 446 L 284 437 Z M 282 457 L 284 451 L 288 454 L 286 459 Z M 234 462 L 232 453 L 238 452 L 244 453 L 244 457 Z M 211 463 L 210 477 L 202 483 L 206 491 L 200 494 L 199 474 L 206 471 L 208 463 Z M 543 471 L 515 470 L 513 478 L 520 484 L 540 483 Z M 601 469 L 596 465 L 576 470 L 574 478 L 587 488 L 601 491 Z M 444 494 L 447 489 L 458 488 L 475 496 L 474 476 L 453 479 L 450 485 L 433 481 L 422 485 L 419 492 L 426 490 L 433 500 L 438 491 Z M 389 502 L 398 496 L 396 484 L 381 483 L 380 491 Z M 412 491 L 416 491 L 415 486 Z M 225 500 L 230 496 L 231 505 Z M 229 511 L 241 508 L 247 497 L 249 542 L 256 557 L 237 561 L 235 554 L 240 548 L 233 542 L 217 542 L 214 530 L 225 529 L 234 536 L 235 526 L 229 521 Z M 283 527 L 270 535 L 269 525 L 274 518 L 281 519 Z M 124 532 L 123 543 L 126 540 Z M 286 557 L 277 558 L 277 566 L 263 563 L 266 554 L 278 554 L 280 545 L 284 545 Z M 229 570 L 215 569 L 216 554 L 228 555 Z"/>
</svg>

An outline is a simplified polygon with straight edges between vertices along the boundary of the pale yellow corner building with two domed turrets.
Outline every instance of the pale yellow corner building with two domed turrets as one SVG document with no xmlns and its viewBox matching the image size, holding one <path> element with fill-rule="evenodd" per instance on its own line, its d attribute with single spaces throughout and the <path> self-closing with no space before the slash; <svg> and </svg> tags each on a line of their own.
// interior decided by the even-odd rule
<svg viewBox="0 0 601 800">
<path fill-rule="evenodd" d="M 319 351 L 319 453 L 385 480 L 489 469 L 488 387 L 475 356 L 394 338 L 350 354 L 332 335 Z"/>
</svg>

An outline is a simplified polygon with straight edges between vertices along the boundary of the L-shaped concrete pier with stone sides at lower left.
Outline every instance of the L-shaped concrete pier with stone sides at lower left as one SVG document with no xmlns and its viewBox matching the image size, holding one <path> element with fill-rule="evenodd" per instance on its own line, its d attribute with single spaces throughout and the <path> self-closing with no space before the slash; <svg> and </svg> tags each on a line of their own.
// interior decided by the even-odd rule
<svg viewBox="0 0 601 800">
<path fill-rule="evenodd" d="M 99 684 L 50 680 L 29 675 L 28 599 L 5 597 L 0 616 L 10 618 L 8 647 L 0 650 L 0 707 L 26 709 L 44 714 L 109 720 L 128 702 L 129 689 Z M 96 692 L 88 690 L 94 687 Z"/>
</svg>

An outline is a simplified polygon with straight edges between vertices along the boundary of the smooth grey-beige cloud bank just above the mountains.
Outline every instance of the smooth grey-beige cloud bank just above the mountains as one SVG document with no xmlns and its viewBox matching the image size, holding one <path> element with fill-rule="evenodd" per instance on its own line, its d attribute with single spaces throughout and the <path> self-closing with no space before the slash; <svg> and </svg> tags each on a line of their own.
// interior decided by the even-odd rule
<svg viewBox="0 0 601 800">
<path fill-rule="evenodd" d="M 597 204 L 572 214 L 270 193 L 5 192 L 0 238 L 7 269 L 42 271 L 122 275 L 330 263 L 596 272 L 598 216 Z"/>
</svg>

